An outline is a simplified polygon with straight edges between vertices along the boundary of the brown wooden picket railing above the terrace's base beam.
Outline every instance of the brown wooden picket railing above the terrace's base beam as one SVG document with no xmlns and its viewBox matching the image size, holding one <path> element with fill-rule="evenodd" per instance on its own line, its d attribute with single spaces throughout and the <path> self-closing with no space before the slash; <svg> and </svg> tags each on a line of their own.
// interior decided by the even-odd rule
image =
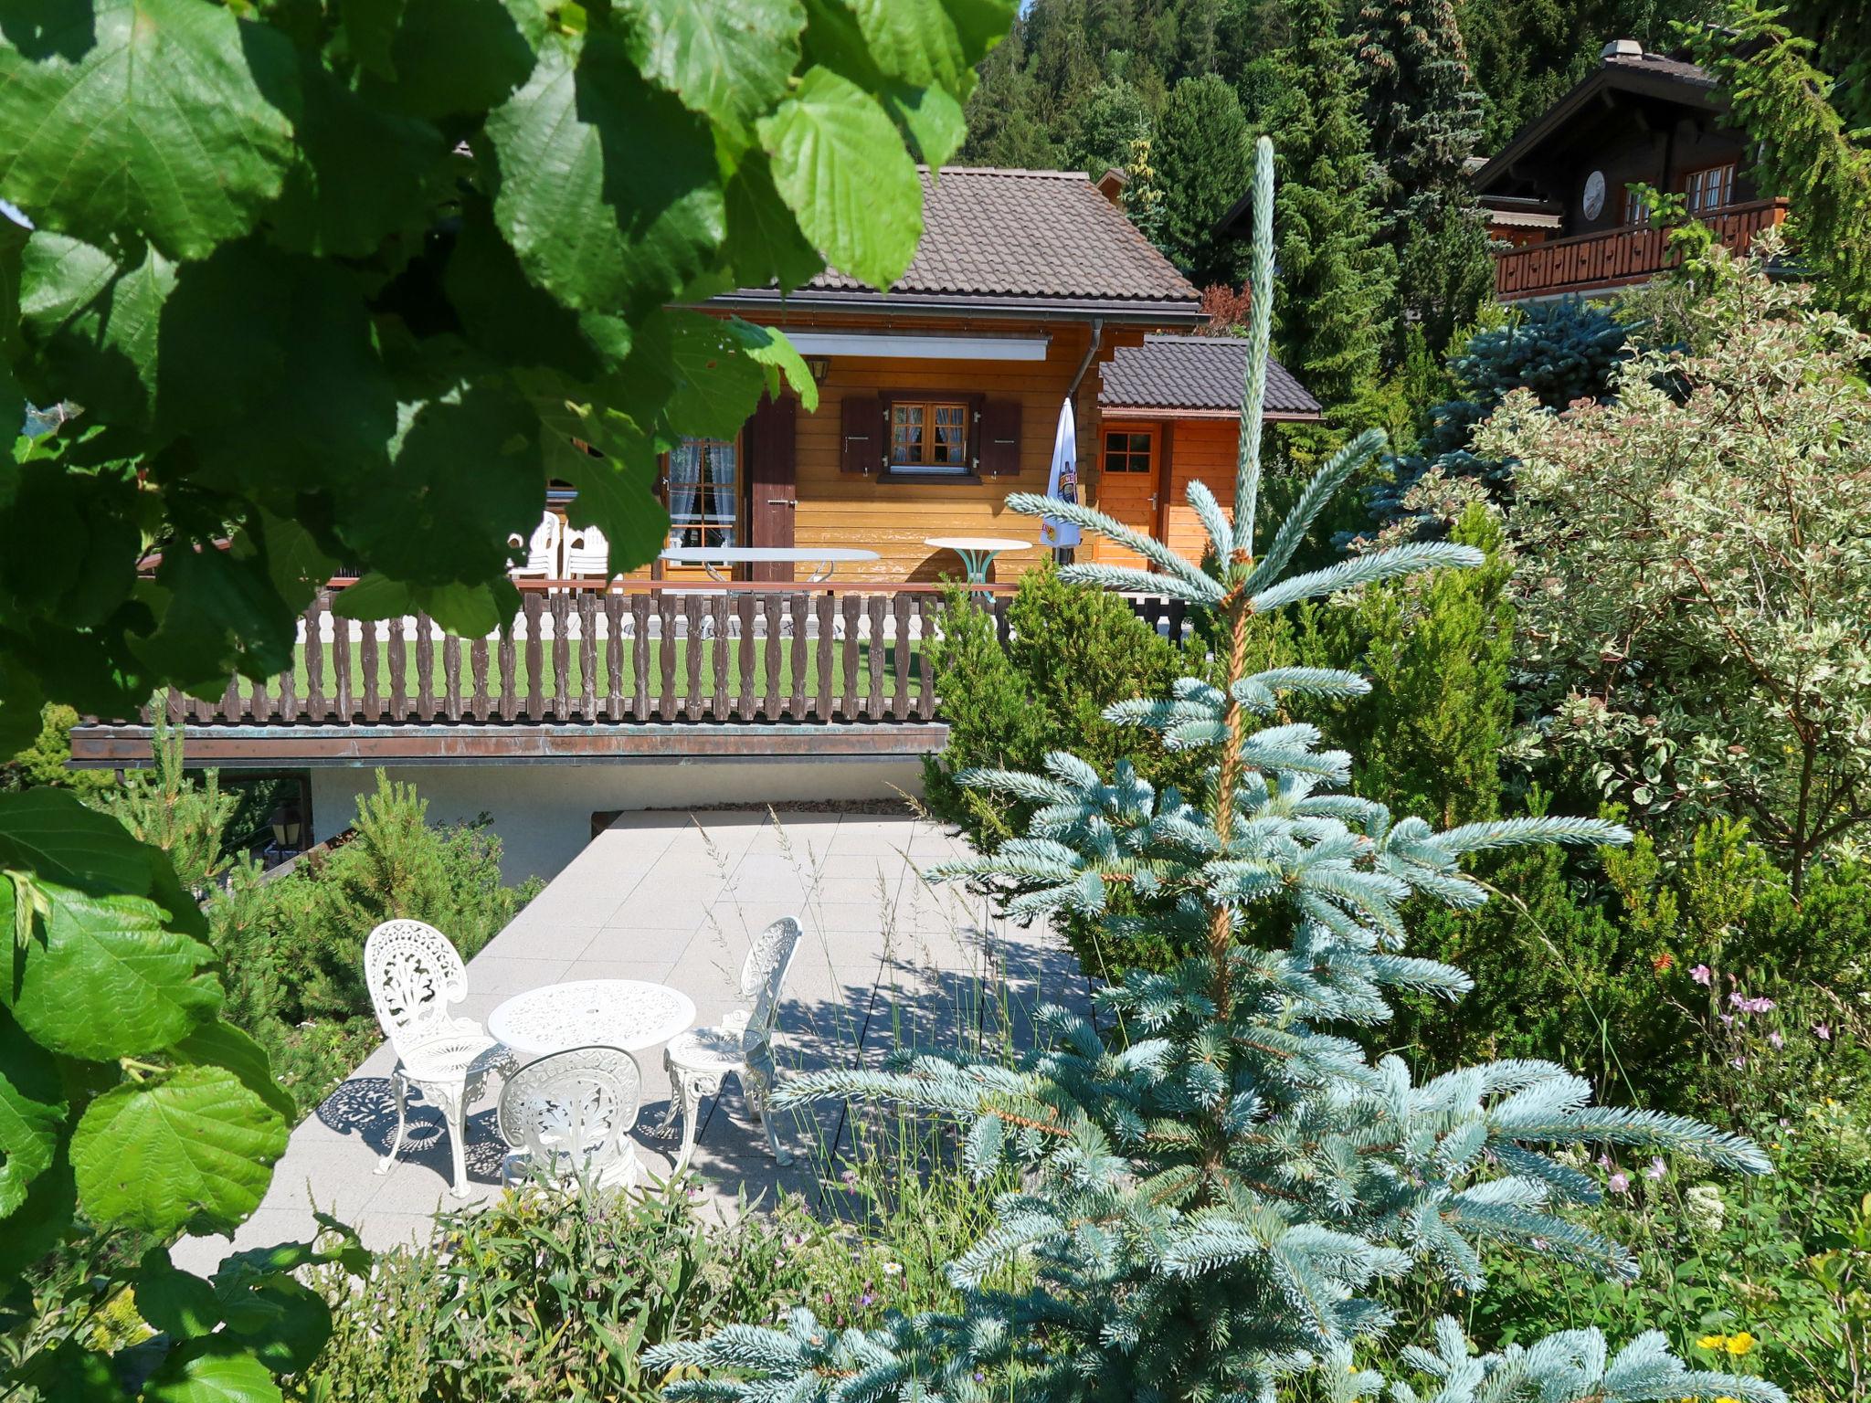
<svg viewBox="0 0 1871 1403">
<path fill-rule="evenodd" d="M 531 582 L 498 634 L 455 638 L 427 615 L 333 614 L 342 582 L 299 623 L 294 666 L 228 681 L 215 702 L 170 692 L 191 726 L 436 726 L 447 722 L 928 722 L 937 586 L 720 586 L 606 591 Z M 1007 638 L 1005 587 L 982 591 Z M 1181 638 L 1179 602 L 1138 599 Z M 144 709 L 142 720 L 153 720 Z"/>
</svg>

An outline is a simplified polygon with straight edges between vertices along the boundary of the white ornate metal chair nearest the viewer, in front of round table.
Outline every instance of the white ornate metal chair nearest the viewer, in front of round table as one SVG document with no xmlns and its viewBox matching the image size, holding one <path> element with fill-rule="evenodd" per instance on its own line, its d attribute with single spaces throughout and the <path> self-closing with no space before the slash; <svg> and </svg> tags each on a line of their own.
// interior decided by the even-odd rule
<svg viewBox="0 0 1871 1403">
<path fill-rule="evenodd" d="M 500 1180 L 539 1173 L 563 1188 L 631 1188 L 642 1175 L 631 1128 L 644 1068 L 621 1048 L 567 1048 L 528 1063 L 500 1089 L 509 1154 Z"/>
</svg>

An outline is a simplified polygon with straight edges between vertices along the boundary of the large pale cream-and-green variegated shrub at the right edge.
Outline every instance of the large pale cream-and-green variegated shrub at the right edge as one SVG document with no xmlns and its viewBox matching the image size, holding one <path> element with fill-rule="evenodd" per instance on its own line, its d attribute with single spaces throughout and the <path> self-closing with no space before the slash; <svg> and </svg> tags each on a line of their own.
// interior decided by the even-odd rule
<svg viewBox="0 0 1871 1403">
<path fill-rule="evenodd" d="M 1536 739 L 1682 842 L 1746 816 L 1800 892 L 1871 823 L 1871 339 L 1757 256 L 1708 254 L 1703 348 L 1617 404 L 1525 389 L 1476 430 L 1517 458 Z"/>
</svg>

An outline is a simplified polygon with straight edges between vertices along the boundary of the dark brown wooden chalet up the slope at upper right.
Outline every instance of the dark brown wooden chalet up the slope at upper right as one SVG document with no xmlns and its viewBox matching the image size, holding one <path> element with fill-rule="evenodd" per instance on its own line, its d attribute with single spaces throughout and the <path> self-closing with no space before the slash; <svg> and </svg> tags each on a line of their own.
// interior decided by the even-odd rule
<svg viewBox="0 0 1871 1403">
<path fill-rule="evenodd" d="M 1572 92 L 1474 170 L 1495 238 L 1495 296 L 1506 303 L 1592 296 L 1648 282 L 1671 260 L 1639 185 L 1684 196 L 1727 247 L 1787 217 L 1748 178 L 1748 138 L 1727 125 L 1714 77 L 1646 52 L 1603 47 Z"/>
</svg>

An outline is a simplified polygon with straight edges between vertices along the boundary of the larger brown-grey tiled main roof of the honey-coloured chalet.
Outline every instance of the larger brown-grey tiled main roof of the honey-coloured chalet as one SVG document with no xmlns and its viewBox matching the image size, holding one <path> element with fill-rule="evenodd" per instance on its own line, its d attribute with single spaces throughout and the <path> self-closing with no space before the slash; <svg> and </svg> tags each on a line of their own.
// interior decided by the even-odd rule
<svg viewBox="0 0 1871 1403">
<path fill-rule="evenodd" d="M 827 269 L 812 292 L 876 294 Z M 1022 303 L 1186 303 L 1201 297 L 1080 170 L 922 170 L 922 243 L 892 294 Z"/>
</svg>

